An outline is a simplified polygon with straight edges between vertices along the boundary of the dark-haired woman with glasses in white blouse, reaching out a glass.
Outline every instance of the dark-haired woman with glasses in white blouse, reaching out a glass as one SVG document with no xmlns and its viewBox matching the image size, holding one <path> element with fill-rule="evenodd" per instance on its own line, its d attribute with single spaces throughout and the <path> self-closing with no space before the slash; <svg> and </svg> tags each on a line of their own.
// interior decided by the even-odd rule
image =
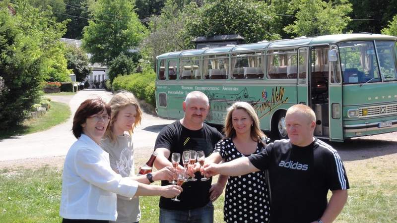
<svg viewBox="0 0 397 223">
<path fill-rule="evenodd" d="M 109 123 L 111 108 L 102 99 L 81 103 L 73 117 L 77 141 L 66 154 L 62 176 L 60 215 L 63 223 L 115 221 L 116 194 L 175 197 L 176 185 L 149 186 L 112 170 L 109 155 L 99 146 Z"/>
</svg>

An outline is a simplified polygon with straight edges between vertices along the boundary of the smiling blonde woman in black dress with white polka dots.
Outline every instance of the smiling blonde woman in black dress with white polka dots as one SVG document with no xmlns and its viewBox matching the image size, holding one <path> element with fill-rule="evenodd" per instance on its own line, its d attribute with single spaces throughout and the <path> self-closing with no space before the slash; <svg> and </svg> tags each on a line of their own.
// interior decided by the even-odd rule
<svg viewBox="0 0 397 223">
<path fill-rule="evenodd" d="M 259 129 L 258 116 L 250 104 L 234 103 L 228 109 L 224 126 L 225 138 L 215 145 L 214 153 L 205 163 L 229 162 L 257 154 L 264 148 L 261 139 L 265 138 L 265 134 Z M 225 185 L 226 182 L 222 181 L 220 179 L 217 184 Z M 230 176 L 226 185 L 223 219 L 227 223 L 268 223 L 269 200 L 265 172 Z"/>
</svg>

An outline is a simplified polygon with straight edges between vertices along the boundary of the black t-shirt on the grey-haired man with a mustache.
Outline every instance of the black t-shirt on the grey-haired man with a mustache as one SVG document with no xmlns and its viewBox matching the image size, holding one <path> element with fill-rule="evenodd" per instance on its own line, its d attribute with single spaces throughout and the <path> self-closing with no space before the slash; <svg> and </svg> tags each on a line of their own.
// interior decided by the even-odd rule
<svg viewBox="0 0 397 223">
<path fill-rule="evenodd" d="M 166 148 L 172 153 L 180 153 L 180 164 L 183 166 L 182 153 L 186 150 L 204 151 L 205 157 L 208 157 L 214 150 L 215 144 L 222 139 L 222 134 L 203 123 L 199 130 L 190 130 L 185 128 L 181 122 L 175 121 L 163 128 L 157 136 L 154 149 Z M 171 156 L 168 160 L 171 162 Z M 179 195 L 180 202 L 172 201 L 169 198 L 160 197 L 159 207 L 168 210 L 192 210 L 204 207 L 209 202 L 209 188 L 211 181 L 201 181 L 199 172 L 196 173 L 196 181 L 185 182 L 183 192 Z M 162 180 L 161 185 L 169 185 L 167 180 Z"/>
</svg>

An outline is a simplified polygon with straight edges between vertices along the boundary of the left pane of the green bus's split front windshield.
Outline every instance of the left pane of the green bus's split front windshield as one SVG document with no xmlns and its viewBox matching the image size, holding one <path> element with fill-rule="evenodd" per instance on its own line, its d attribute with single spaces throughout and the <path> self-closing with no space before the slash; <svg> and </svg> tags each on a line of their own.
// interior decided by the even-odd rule
<svg viewBox="0 0 397 223">
<path fill-rule="evenodd" d="M 382 81 L 373 41 L 338 44 L 344 84 Z"/>
</svg>

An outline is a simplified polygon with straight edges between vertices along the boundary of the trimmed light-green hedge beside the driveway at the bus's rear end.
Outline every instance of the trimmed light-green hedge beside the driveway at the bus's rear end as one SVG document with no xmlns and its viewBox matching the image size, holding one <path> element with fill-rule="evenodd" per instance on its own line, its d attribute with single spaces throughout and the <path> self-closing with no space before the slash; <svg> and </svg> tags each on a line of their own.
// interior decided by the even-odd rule
<svg viewBox="0 0 397 223">
<path fill-rule="evenodd" d="M 125 76 L 118 76 L 113 80 L 113 90 L 127 90 L 132 92 L 136 98 L 145 100 L 147 103 L 156 106 L 154 80 L 156 74 L 153 71 L 134 73 Z"/>
</svg>

